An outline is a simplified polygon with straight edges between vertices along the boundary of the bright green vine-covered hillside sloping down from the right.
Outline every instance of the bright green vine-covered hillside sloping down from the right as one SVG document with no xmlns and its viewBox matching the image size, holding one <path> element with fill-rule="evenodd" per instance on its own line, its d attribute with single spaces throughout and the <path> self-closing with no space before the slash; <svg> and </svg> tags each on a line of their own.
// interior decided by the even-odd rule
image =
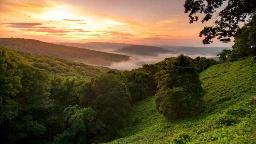
<svg viewBox="0 0 256 144">
<path fill-rule="evenodd" d="M 151 97 L 132 105 L 123 138 L 109 143 L 255 143 L 256 57 L 211 66 L 200 79 L 206 90 L 201 114 L 167 126 Z"/>
</svg>

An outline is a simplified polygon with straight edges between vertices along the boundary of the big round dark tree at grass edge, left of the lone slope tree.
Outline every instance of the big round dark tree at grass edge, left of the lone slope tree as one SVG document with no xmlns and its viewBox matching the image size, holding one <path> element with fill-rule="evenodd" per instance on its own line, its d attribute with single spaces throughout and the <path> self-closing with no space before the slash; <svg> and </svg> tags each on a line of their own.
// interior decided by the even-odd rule
<svg viewBox="0 0 256 144">
<path fill-rule="evenodd" d="M 125 76 L 112 70 L 91 79 L 81 88 L 81 107 L 92 107 L 97 112 L 97 119 L 105 124 L 107 135 L 117 128 L 125 126 L 125 112 L 130 107 L 130 92 L 123 82 Z M 83 105 L 87 104 L 87 105 Z"/>
</svg>

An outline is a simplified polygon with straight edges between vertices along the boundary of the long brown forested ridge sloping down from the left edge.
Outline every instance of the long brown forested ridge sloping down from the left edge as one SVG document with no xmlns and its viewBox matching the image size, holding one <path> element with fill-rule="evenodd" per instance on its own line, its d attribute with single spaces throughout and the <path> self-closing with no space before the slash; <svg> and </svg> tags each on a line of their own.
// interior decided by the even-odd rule
<svg viewBox="0 0 256 144">
<path fill-rule="evenodd" d="M 23 38 L 0 38 L 0 45 L 18 51 L 51 55 L 96 66 L 109 66 L 112 62 L 124 62 L 130 57 Z"/>
</svg>

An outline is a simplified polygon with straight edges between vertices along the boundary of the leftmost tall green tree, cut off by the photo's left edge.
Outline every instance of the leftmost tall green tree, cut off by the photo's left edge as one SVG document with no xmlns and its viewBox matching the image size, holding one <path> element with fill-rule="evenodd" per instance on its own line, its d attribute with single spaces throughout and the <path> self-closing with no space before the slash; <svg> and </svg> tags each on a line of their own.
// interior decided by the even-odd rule
<svg viewBox="0 0 256 144">
<path fill-rule="evenodd" d="M 18 115 L 18 103 L 12 98 L 21 87 L 21 73 L 12 62 L 4 47 L 0 46 L 0 124 Z"/>
</svg>

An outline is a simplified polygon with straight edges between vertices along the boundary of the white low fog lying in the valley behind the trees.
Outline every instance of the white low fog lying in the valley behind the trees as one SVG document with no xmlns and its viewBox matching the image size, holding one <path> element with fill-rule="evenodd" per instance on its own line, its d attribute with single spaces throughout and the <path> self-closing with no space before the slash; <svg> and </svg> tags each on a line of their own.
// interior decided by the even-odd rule
<svg viewBox="0 0 256 144">
<path fill-rule="evenodd" d="M 118 69 L 118 70 L 132 70 L 132 69 L 141 67 L 143 64 L 155 64 L 157 62 L 164 60 L 167 57 L 177 57 L 180 54 L 181 53 L 178 53 L 178 54 L 166 53 L 166 54 L 158 54 L 158 56 L 156 57 L 132 56 L 126 62 L 113 62 L 110 66 L 107 66 L 107 67 L 111 69 Z M 216 55 L 213 55 L 213 54 L 207 54 L 207 55 L 193 54 L 193 55 L 187 55 L 187 56 L 191 58 L 196 58 L 197 56 L 206 57 L 206 58 L 216 57 Z"/>
</svg>

